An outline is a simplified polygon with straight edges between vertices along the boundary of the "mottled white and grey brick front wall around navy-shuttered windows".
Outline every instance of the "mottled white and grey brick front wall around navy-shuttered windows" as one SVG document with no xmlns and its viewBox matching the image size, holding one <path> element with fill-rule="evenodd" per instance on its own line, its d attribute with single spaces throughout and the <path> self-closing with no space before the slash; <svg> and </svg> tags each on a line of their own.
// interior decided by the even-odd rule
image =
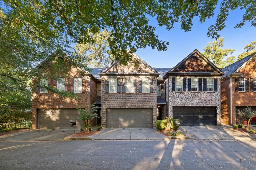
<svg viewBox="0 0 256 170">
<path fill-rule="evenodd" d="M 177 76 L 178 77 L 178 76 Z M 168 77 L 169 94 L 167 96 L 167 105 L 169 116 L 173 115 L 173 107 L 216 107 L 217 112 L 217 125 L 220 125 L 220 76 L 180 76 L 187 78 L 190 77 L 214 77 L 218 79 L 218 90 L 213 92 L 208 91 L 172 91 L 172 76 Z M 202 84 L 203 89 L 203 84 Z"/>
</svg>

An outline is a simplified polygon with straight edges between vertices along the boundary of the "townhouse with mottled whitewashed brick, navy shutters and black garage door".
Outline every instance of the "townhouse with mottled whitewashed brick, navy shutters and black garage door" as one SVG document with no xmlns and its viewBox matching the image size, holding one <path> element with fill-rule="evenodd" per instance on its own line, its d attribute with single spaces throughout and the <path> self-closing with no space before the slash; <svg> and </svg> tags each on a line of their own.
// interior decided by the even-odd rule
<svg viewBox="0 0 256 170">
<path fill-rule="evenodd" d="M 169 116 L 181 125 L 220 125 L 223 74 L 195 49 L 163 77 Z"/>
</svg>

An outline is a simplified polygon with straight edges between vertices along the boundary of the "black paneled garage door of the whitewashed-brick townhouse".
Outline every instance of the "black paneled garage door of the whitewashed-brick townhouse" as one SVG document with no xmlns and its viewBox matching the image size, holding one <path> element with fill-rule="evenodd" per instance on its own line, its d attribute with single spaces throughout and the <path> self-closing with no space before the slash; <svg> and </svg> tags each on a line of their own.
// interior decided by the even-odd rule
<svg viewBox="0 0 256 170">
<path fill-rule="evenodd" d="M 215 107 L 173 107 L 173 117 L 181 125 L 216 125 Z"/>
</svg>

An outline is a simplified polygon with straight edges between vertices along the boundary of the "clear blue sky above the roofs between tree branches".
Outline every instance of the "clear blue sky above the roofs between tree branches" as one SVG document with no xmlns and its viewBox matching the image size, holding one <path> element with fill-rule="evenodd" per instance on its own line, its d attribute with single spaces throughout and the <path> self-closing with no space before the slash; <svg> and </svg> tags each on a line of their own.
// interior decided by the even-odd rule
<svg viewBox="0 0 256 170">
<path fill-rule="evenodd" d="M 198 49 L 202 53 L 207 43 L 214 41 L 207 37 L 207 32 L 208 27 L 215 24 L 218 13 L 219 6 L 215 10 L 214 17 L 207 19 L 204 23 L 200 23 L 198 18 L 194 18 L 191 32 L 181 30 L 178 23 L 170 31 L 167 31 L 165 27 L 156 27 L 156 35 L 159 36 L 159 39 L 169 42 L 168 50 L 163 52 L 147 47 L 137 49 L 136 54 L 152 67 L 174 67 L 194 49 Z M 244 47 L 247 44 L 256 41 L 256 28 L 251 27 L 249 22 L 240 29 L 234 28 L 242 20 L 243 14 L 244 11 L 240 9 L 231 11 L 226 20 L 226 27 L 220 32 L 220 36 L 224 37 L 225 46 L 223 48 L 235 49 L 233 55 L 236 57 L 245 51 Z M 154 18 L 150 18 L 150 24 L 157 26 Z"/>
</svg>

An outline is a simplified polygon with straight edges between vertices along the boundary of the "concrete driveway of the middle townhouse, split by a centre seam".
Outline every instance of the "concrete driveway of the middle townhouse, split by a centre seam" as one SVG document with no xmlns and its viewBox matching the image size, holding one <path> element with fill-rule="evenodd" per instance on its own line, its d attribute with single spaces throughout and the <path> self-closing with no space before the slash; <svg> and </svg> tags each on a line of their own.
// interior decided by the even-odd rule
<svg viewBox="0 0 256 170">
<path fill-rule="evenodd" d="M 111 128 L 90 136 L 91 139 L 164 139 L 154 128 Z"/>
</svg>

